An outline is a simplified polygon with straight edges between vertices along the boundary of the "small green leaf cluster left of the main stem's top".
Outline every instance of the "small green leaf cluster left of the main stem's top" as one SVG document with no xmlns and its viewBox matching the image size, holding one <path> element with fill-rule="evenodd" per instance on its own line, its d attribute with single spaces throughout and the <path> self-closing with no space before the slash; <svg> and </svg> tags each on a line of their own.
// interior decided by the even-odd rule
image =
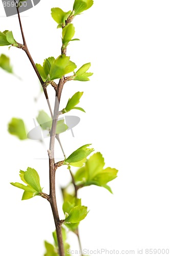
<svg viewBox="0 0 170 256">
<path fill-rule="evenodd" d="M 70 13 L 71 11 L 64 12 L 60 8 L 52 8 L 52 17 L 61 27 L 62 25 L 65 25 L 65 20 L 68 18 Z"/>
</svg>

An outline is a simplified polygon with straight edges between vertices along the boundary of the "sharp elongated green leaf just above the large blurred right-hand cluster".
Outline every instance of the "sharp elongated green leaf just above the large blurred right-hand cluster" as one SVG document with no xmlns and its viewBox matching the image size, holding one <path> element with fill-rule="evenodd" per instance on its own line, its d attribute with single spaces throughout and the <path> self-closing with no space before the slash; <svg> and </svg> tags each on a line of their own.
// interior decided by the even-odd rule
<svg viewBox="0 0 170 256">
<path fill-rule="evenodd" d="M 78 150 L 74 151 L 67 159 L 65 159 L 65 164 L 69 163 L 76 163 L 82 161 L 84 158 L 89 156 L 91 152 L 94 151 L 93 148 L 87 148 L 91 144 L 86 144 L 78 148 Z"/>
</svg>

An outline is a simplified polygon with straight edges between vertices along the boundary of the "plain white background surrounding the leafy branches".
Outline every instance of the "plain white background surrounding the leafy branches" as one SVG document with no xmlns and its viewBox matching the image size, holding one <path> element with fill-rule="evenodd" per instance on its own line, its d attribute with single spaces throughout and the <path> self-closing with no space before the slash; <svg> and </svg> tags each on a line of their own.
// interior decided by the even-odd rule
<svg viewBox="0 0 170 256">
<path fill-rule="evenodd" d="M 41 1 L 22 13 L 21 19 L 33 59 L 42 63 L 57 57 L 61 30 L 51 18 L 51 8 L 70 10 L 74 1 Z M 5 17 L 1 7 L 0 30 L 12 30 L 22 42 L 16 16 Z M 61 108 L 70 96 L 84 91 L 80 106 L 86 114 L 72 111 L 81 122 L 61 135 L 66 155 L 92 143 L 105 157 L 106 167 L 119 170 L 110 183 L 114 195 L 100 187 L 86 187 L 79 197 L 90 212 L 80 225 L 83 248 L 137 250 L 169 248 L 169 84 L 170 3 L 157 0 L 94 1 L 93 7 L 74 20 L 76 38 L 67 54 L 80 67 L 91 61 L 90 82 L 65 84 Z M 4 17 L 2 17 L 4 16 Z M 38 104 L 39 82 L 26 54 L 1 47 L 11 57 L 22 80 L 1 74 L 1 254 L 42 256 L 43 240 L 52 242 L 54 222 L 50 205 L 40 197 L 21 201 L 22 191 L 9 183 L 19 181 L 19 169 L 37 170 L 48 193 L 46 148 L 36 141 L 22 141 L 7 132 L 12 117 L 23 118 L 28 131 L 39 110 L 48 111 L 45 97 Z M 54 92 L 48 89 L 51 101 Z M 59 146 L 56 156 L 62 159 Z M 40 158 L 43 158 L 40 160 Z M 57 199 L 61 210 L 60 185 L 69 181 L 67 169 L 57 172 Z M 72 249 L 77 238 L 69 234 Z M 144 249 L 143 249 L 144 250 Z M 145 255 L 145 253 L 143 252 Z M 76 254 L 75 254 L 76 255 Z"/>
</svg>

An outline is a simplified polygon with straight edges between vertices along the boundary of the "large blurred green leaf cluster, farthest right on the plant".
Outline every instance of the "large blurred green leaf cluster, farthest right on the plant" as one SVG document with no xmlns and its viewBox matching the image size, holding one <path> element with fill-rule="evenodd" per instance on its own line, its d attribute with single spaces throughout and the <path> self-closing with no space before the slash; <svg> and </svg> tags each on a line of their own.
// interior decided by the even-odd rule
<svg viewBox="0 0 170 256">
<path fill-rule="evenodd" d="M 104 165 L 105 162 L 102 154 L 99 152 L 93 154 L 85 162 L 85 166 L 77 170 L 74 177 L 76 184 L 81 184 L 82 186 L 101 186 L 108 189 L 110 193 L 112 193 L 112 190 L 107 185 L 107 183 L 114 180 L 117 177 L 118 170 L 111 167 L 103 169 Z"/>
</svg>

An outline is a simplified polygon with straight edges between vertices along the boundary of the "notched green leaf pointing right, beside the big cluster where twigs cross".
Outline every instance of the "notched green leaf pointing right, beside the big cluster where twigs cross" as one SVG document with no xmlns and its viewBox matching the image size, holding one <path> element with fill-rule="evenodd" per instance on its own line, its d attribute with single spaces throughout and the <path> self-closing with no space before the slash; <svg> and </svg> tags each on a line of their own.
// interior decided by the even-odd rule
<svg viewBox="0 0 170 256">
<path fill-rule="evenodd" d="M 72 78 L 78 81 L 89 81 L 89 76 L 92 76 L 93 73 L 87 73 L 86 71 L 91 67 L 91 63 L 84 64 L 76 73 L 76 76 Z"/>
</svg>

